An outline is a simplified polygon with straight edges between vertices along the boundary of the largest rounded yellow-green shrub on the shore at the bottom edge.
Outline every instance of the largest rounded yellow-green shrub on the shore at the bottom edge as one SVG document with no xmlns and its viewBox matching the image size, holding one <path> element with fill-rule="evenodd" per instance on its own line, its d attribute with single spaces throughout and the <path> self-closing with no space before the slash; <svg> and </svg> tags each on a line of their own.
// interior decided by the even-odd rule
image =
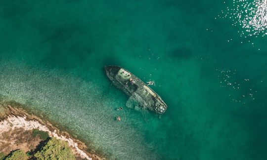
<svg viewBox="0 0 267 160">
<path fill-rule="evenodd" d="M 75 160 L 68 144 L 56 138 L 51 138 L 34 156 L 37 160 Z"/>
</svg>

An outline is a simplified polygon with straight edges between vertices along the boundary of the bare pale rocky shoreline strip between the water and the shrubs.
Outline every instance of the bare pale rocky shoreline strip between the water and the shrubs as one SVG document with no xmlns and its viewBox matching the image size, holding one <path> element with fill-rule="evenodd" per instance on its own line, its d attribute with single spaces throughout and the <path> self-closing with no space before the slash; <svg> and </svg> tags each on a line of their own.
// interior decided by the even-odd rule
<svg viewBox="0 0 267 160">
<path fill-rule="evenodd" d="M 68 143 L 73 153 L 87 160 L 101 160 L 95 154 L 87 152 L 87 146 L 85 143 L 70 136 L 65 131 L 60 131 L 53 126 L 49 121 L 42 120 L 39 117 L 29 114 L 25 110 L 19 107 L 12 107 L 11 105 L 2 105 L 0 110 L 0 134 L 9 130 L 17 128 L 23 128 L 26 130 L 39 129 L 48 133 L 50 137 L 63 140 Z"/>
</svg>

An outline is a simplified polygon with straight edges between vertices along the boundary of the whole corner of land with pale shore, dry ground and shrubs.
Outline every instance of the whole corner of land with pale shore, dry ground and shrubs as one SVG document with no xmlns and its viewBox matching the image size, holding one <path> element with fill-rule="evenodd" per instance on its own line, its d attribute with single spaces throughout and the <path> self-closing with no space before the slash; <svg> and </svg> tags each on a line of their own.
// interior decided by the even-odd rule
<svg viewBox="0 0 267 160">
<path fill-rule="evenodd" d="M 7 157 L 17 150 L 24 153 L 27 160 L 53 160 L 51 157 L 54 157 L 54 160 L 86 160 L 88 158 L 100 160 L 98 156 L 87 153 L 87 147 L 81 141 L 71 138 L 68 133 L 58 130 L 50 122 L 27 113 L 19 108 L 20 104 L 12 103 L 14 107 L 9 104 L 10 102 L 8 104 L 0 102 L 0 122 L 4 122 L 0 125 L 4 128 L 0 130 L 0 160 L 7 160 Z M 23 126 L 20 126 L 21 118 L 23 118 Z M 38 127 L 35 126 L 36 121 Z M 54 138 L 50 137 L 49 131 L 46 132 L 47 129 L 43 127 L 47 127 L 53 133 L 57 132 L 55 135 L 51 134 Z M 41 156 L 48 158 L 42 159 Z"/>
</svg>

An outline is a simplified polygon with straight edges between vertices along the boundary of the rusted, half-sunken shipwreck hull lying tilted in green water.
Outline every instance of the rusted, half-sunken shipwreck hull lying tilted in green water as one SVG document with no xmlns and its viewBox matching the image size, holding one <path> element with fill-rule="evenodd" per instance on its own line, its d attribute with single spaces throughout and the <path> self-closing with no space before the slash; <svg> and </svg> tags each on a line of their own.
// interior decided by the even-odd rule
<svg viewBox="0 0 267 160">
<path fill-rule="evenodd" d="M 161 97 L 129 71 L 118 66 L 105 66 L 108 78 L 122 89 L 141 108 L 147 108 L 157 114 L 163 114 L 167 105 Z"/>
</svg>

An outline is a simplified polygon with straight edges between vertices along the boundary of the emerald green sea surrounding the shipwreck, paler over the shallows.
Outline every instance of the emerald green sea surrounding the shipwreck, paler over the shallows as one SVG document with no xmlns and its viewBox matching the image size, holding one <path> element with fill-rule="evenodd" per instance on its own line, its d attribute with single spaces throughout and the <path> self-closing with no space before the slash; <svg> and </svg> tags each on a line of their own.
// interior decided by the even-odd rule
<svg viewBox="0 0 267 160">
<path fill-rule="evenodd" d="M 257 1 L 0 0 L 0 95 L 110 159 L 266 160 L 267 13 L 261 32 L 233 14 Z M 110 64 L 154 80 L 166 113 L 127 108 Z"/>
</svg>

